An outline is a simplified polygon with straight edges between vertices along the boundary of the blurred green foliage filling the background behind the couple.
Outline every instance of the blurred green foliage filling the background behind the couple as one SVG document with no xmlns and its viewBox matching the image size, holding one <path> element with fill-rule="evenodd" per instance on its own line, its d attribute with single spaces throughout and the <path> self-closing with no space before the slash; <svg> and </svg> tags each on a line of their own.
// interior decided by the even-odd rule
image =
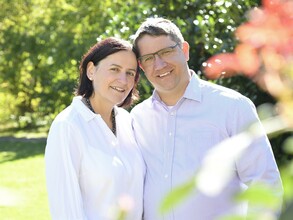
<svg viewBox="0 0 293 220">
<path fill-rule="evenodd" d="M 175 21 L 190 43 L 190 67 L 201 75 L 209 56 L 231 51 L 235 27 L 258 1 L 4 0 L 0 12 L 0 113 L 18 127 L 50 124 L 73 96 L 82 55 L 109 36 L 125 39 L 149 16 Z M 236 7 L 235 7 L 236 6 Z M 218 82 L 221 84 L 222 82 Z M 223 83 L 225 84 L 225 83 Z M 246 82 L 227 82 L 258 96 Z M 243 89 L 244 88 L 244 89 Z M 142 75 L 141 101 L 151 85 Z"/>
</svg>

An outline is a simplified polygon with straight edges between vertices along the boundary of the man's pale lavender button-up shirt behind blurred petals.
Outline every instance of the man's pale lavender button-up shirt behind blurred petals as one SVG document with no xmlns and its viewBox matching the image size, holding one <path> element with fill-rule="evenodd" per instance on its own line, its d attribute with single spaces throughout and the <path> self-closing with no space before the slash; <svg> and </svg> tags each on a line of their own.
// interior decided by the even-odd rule
<svg viewBox="0 0 293 220">
<path fill-rule="evenodd" d="M 211 220 L 226 214 L 245 215 L 247 204 L 232 201 L 235 192 L 247 189 L 254 181 L 281 185 L 271 146 L 264 135 L 240 159 L 235 159 L 232 179 L 220 194 L 197 192 L 161 215 L 158 209 L 164 196 L 195 174 L 209 149 L 250 123 L 259 122 L 256 109 L 238 92 L 193 74 L 175 106 L 166 106 L 154 91 L 152 97 L 134 107 L 131 116 L 147 166 L 145 220 Z"/>
</svg>

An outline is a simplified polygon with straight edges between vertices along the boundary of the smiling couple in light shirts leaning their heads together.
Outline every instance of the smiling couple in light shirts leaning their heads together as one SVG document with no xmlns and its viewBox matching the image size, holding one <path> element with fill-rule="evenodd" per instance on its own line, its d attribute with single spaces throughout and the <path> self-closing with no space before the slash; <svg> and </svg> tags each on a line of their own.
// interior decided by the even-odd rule
<svg viewBox="0 0 293 220">
<path fill-rule="evenodd" d="M 138 59 L 137 59 L 138 57 Z M 155 90 L 135 106 L 138 66 Z M 167 193 L 189 180 L 209 149 L 259 119 L 239 93 L 199 79 L 178 27 L 149 18 L 134 45 L 108 38 L 80 63 L 72 104 L 51 125 L 46 175 L 53 219 L 211 220 L 245 216 L 233 195 L 255 182 L 280 186 L 264 134 L 235 158 L 233 177 L 216 196 L 197 192 L 166 214 Z M 235 146 L 237 148 L 237 146 Z M 280 189 L 281 192 L 281 189 Z"/>
</svg>

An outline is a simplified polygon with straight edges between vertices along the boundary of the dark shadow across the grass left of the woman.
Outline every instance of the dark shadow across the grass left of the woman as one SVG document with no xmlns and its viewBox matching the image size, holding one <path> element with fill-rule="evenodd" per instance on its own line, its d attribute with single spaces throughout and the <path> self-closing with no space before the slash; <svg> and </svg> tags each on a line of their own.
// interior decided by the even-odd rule
<svg viewBox="0 0 293 220">
<path fill-rule="evenodd" d="M 0 137 L 0 164 L 44 155 L 46 138 Z"/>
</svg>

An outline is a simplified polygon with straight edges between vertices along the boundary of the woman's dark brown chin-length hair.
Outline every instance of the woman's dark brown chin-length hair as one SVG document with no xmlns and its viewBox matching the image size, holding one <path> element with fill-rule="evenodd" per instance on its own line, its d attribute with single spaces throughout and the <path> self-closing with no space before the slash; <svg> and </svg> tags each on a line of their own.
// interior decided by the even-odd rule
<svg viewBox="0 0 293 220">
<path fill-rule="evenodd" d="M 93 84 L 92 81 L 87 77 L 87 65 L 89 62 L 93 62 L 95 66 L 99 64 L 99 62 L 105 59 L 107 56 L 117 53 L 119 51 L 134 51 L 132 45 L 125 40 L 110 37 L 105 40 L 102 40 L 92 46 L 88 52 L 83 56 L 80 65 L 79 65 L 79 83 L 78 87 L 75 91 L 75 95 L 80 95 L 85 98 L 89 98 L 93 93 Z M 135 53 L 136 57 L 137 54 Z M 135 78 L 134 78 L 134 86 L 133 89 L 129 92 L 126 99 L 120 103 L 118 106 L 127 108 L 129 107 L 133 101 L 138 99 L 138 90 L 137 84 L 139 80 L 139 70 L 137 68 Z"/>
</svg>

